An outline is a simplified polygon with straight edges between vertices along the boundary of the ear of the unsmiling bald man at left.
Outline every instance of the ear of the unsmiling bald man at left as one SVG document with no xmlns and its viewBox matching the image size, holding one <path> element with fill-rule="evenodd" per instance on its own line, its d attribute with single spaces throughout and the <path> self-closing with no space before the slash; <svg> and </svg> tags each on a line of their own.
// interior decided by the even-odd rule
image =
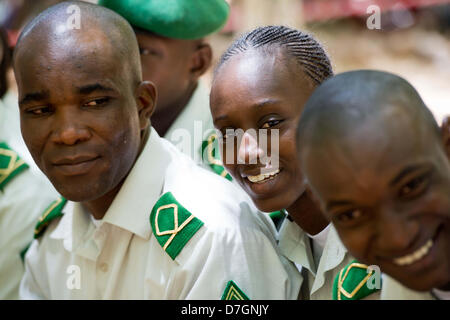
<svg viewBox="0 0 450 320">
<path fill-rule="evenodd" d="M 156 107 L 156 87 L 151 81 L 142 81 L 136 89 L 136 102 L 141 130 L 150 125 L 150 117 Z"/>
</svg>

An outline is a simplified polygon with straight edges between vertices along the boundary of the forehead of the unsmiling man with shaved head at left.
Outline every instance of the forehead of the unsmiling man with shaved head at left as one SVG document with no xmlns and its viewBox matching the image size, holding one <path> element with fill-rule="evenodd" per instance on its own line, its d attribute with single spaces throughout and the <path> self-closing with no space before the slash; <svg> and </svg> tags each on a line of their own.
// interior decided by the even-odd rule
<svg viewBox="0 0 450 320">
<path fill-rule="evenodd" d="M 33 90 L 107 78 L 123 78 L 120 49 L 97 28 L 70 30 L 47 36 L 27 36 L 15 56 L 15 72 L 21 89 Z M 119 81 L 120 82 L 120 81 Z"/>
</svg>

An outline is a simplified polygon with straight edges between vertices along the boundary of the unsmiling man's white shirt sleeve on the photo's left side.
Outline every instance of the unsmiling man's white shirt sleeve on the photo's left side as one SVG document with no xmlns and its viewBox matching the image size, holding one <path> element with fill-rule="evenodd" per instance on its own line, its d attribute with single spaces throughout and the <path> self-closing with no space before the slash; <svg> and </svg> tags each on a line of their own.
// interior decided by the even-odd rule
<svg viewBox="0 0 450 320">
<path fill-rule="evenodd" d="M 48 299 L 39 285 L 39 242 L 34 240 L 25 256 L 25 274 L 20 282 L 19 298 L 21 300 Z"/>
</svg>

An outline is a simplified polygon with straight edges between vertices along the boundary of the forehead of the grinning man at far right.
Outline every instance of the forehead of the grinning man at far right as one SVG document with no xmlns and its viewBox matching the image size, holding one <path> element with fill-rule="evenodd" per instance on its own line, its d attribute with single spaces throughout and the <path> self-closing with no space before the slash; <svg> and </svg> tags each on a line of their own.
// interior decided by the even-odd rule
<svg viewBox="0 0 450 320">
<path fill-rule="evenodd" d="M 386 185 L 407 167 L 448 165 L 429 126 L 404 110 L 390 110 L 347 132 L 330 131 L 320 143 L 307 142 L 302 161 L 308 180 L 324 194 L 350 196 Z"/>
</svg>

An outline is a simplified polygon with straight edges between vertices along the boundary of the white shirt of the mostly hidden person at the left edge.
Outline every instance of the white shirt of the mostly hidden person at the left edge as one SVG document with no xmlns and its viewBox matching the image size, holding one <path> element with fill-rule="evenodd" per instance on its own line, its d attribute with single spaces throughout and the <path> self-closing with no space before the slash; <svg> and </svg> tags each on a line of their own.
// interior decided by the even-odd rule
<svg viewBox="0 0 450 320">
<path fill-rule="evenodd" d="M 50 182 L 30 169 L 12 178 L 0 192 L 0 300 L 19 297 L 25 271 L 21 251 L 33 240 L 39 216 L 57 196 Z"/>
</svg>

